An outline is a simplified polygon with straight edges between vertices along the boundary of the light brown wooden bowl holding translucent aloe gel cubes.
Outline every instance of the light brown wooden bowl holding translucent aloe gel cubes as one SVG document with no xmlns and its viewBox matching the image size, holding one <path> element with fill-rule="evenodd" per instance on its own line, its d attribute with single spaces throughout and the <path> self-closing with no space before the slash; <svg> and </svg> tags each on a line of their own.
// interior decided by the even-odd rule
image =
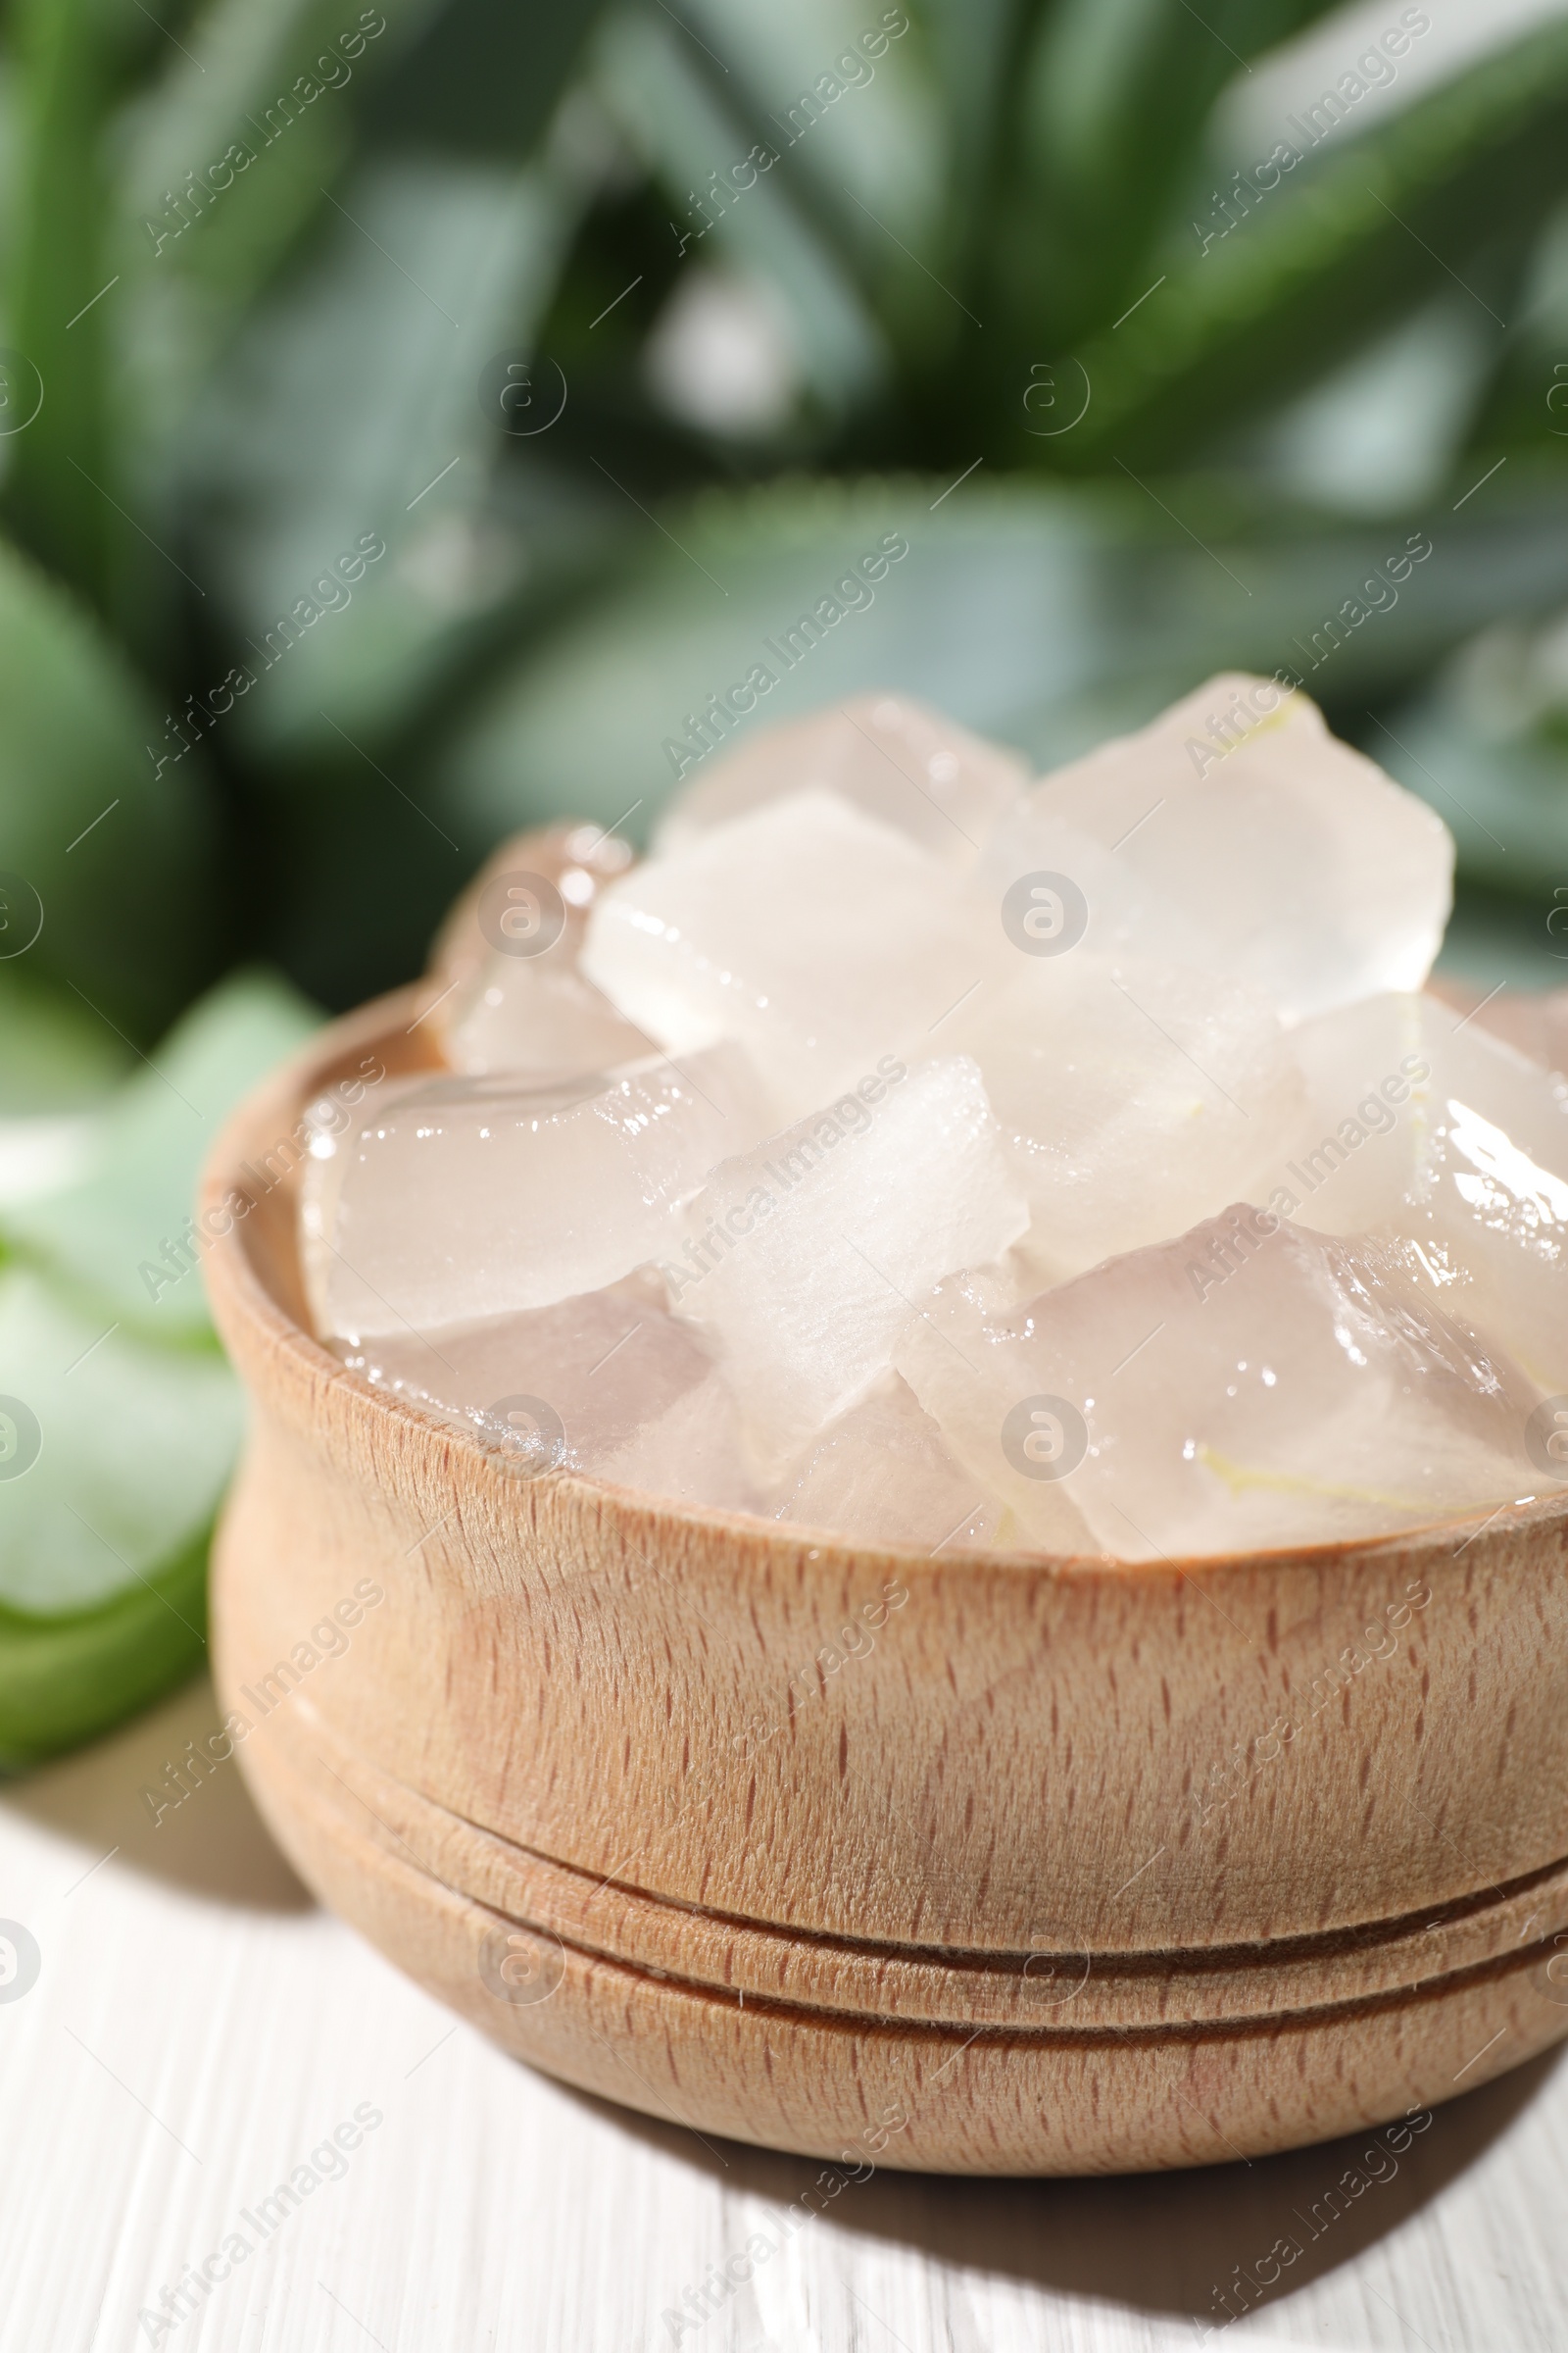
<svg viewBox="0 0 1568 2353">
<path fill-rule="evenodd" d="M 430 995 L 205 1179 L 214 1661 L 322 1901 L 534 2066 L 849 2165 L 1222 2162 L 1568 2033 L 1568 1497 L 1107 1567 L 517 1478 L 306 1327 L 301 1108 L 430 1066 Z"/>
</svg>

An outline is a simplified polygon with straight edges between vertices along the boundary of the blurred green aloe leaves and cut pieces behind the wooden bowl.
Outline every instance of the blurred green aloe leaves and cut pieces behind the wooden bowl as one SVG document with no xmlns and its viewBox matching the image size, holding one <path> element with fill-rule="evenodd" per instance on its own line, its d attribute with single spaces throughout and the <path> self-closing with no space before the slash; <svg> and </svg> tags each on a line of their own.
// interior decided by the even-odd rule
<svg viewBox="0 0 1568 2353">
<path fill-rule="evenodd" d="M 155 1306 L 139 1261 L 214 1120 L 308 998 L 407 976 L 505 828 L 639 833 L 799 614 L 752 725 L 886 682 L 1039 765 L 1291 666 L 1556 969 L 1568 26 L 1446 75 L 1420 7 L 1335 26 L 19 0 L 2 1760 L 200 1649 L 240 1409 L 197 1275 Z M 1269 120 L 1253 64 L 1312 28 L 1324 96 Z"/>
</svg>

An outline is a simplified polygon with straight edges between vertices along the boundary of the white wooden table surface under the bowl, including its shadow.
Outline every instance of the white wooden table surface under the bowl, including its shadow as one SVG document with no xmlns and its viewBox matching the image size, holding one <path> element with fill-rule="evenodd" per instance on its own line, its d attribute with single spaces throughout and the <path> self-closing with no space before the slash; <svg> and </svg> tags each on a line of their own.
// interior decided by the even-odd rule
<svg viewBox="0 0 1568 2353">
<path fill-rule="evenodd" d="M 677 2339 L 665 2311 L 818 2167 L 491 2049 L 313 1906 L 233 1767 L 153 1828 L 143 1781 L 216 1720 L 197 1682 L 0 1793 L 0 1918 L 42 1953 L 0 2002 L 2 2353 L 1164 2353 L 1361 2148 L 1117 2181 L 877 2174 Z M 341 2179 L 247 2231 L 364 2104 L 383 2122 Z M 1293 2292 L 1206 2341 L 1556 2353 L 1566 2186 L 1549 2057 L 1439 2108 Z M 141 2308 L 235 2228 L 254 2254 L 153 2339 Z"/>
</svg>

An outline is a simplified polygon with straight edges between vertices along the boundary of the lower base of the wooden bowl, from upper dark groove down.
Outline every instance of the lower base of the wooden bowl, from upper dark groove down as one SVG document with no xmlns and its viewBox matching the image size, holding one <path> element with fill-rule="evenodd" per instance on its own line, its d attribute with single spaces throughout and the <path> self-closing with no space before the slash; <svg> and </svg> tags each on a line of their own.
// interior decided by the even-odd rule
<svg viewBox="0 0 1568 2353">
<path fill-rule="evenodd" d="M 1425 2111 L 1568 2033 L 1568 1981 L 1549 1974 L 1568 1866 L 1349 1937 L 919 1953 L 595 1880 L 451 1814 L 308 1706 L 240 1755 L 315 1894 L 503 2049 L 665 2122 L 837 2165 L 1225 2165 Z M 872 1986 L 875 2014 L 856 2007 Z"/>
</svg>

